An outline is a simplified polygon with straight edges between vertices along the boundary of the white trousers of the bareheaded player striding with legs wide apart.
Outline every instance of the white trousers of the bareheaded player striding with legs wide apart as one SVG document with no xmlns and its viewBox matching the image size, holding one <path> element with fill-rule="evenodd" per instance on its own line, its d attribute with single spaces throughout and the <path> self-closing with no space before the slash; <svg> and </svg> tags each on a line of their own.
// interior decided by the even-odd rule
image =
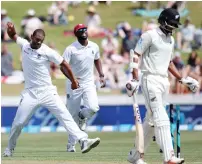
<svg viewBox="0 0 202 164">
<path fill-rule="evenodd" d="M 9 149 L 15 148 L 17 138 L 22 128 L 28 123 L 39 106 L 47 108 L 59 120 L 60 124 L 64 126 L 67 132 L 77 140 L 88 138 L 88 135 L 81 131 L 74 122 L 65 104 L 60 99 L 55 86 L 25 89 L 21 93 L 21 96 L 22 99 L 9 136 Z"/>
</svg>

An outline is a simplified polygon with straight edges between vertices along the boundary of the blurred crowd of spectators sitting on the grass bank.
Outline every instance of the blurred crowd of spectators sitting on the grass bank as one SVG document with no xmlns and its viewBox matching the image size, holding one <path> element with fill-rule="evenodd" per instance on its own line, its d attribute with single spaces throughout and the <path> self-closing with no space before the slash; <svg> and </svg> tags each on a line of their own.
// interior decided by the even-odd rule
<svg viewBox="0 0 202 164">
<path fill-rule="evenodd" d="M 48 22 L 50 26 L 66 26 L 69 21 L 74 19 L 69 15 L 69 7 L 79 7 L 80 1 L 56 1 L 53 2 L 46 16 L 39 16 L 34 9 L 28 9 L 25 16 L 21 20 L 20 35 L 26 39 L 30 39 L 31 34 L 37 28 L 44 28 L 44 23 Z M 113 5 L 111 1 L 96 1 L 88 2 L 89 6 L 86 9 L 86 16 L 83 22 L 88 26 L 88 35 L 90 40 L 93 37 L 101 38 L 100 51 L 102 52 L 102 63 L 107 87 L 105 91 L 118 89 L 124 92 L 125 82 L 131 78 L 128 70 L 129 51 L 133 49 L 141 36 L 147 30 L 158 27 L 156 19 L 145 21 L 143 19 L 142 28 L 132 27 L 126 20 L 117 22 L 115 27 L 107 29 L 102 26 L 102 16 L 97 12 L 96 7 L 100 3 L 105 3 L 107 6 Z M 137 3 L 134 1 L 133 3 Z M 161 8 L 159 2 L 140 2 L 140 8 L 150 10 L 151 3 L 156 3 L 158 8 Z M 167 6 L 173 7 L 179 11 L 186 8 L 186 2 L 172 1 L 168 2 Z M 9 12 L 5 9 L 1 10 L 1 76 L 2 83 L 22 83 L 22 70 L 16 71 L 13 64 L 13 54 L 8 51 L 7 44 L 10 39 L 6 33 L 6 23 L 12 21 L 9 17 Z M 56 27 L 57 28 L 57 27 Z M 173 54 L 173 62 L 183 76 L 191 76 L 200 82 L 202 92 L 202 58 L 197 52 L 202 50 L 202 22 L 200 27 L 195 27 L 190 17 L 186 17 L 183 24 L 175 32 L 175 51 Z M 57 50 L 53 42 L 48 45 Z M 184 62 L 183 59 L 187 59 Z M 19 59 L 20 60 L 20 59 Z M 64 78 L 59 68 L 55 64 L 51 64 L 51 75 L 53 78 Z M 98 84 L 98 76 L 95 71 L 95 83 Z M 10 78 L 10 80 L 8 80 Z M 176 94 L 189 93 L 187 88 L 183 87 L 176 79 L 169 75 L 171 81 L 171 92 Z M 9 81 L 9 82 L 8 82 Z M 13 82 L 10 82 L 13 81 Z"/>
</svg>

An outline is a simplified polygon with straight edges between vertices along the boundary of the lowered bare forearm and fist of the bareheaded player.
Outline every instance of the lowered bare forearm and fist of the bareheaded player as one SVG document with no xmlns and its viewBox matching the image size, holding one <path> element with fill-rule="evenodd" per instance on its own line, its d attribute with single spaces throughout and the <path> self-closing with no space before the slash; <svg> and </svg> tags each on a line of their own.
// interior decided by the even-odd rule
<svg viewBox="0 0 202 164">
<path fill-rule="evenodd" d="M 60 70 L 72 82 L 71 87 L 73 90 L 79 88 L 79 83 L 74 77 L 69 64 L 65 60 L 63 60 L 62 63 L 60 64 Z"/>
</svg>

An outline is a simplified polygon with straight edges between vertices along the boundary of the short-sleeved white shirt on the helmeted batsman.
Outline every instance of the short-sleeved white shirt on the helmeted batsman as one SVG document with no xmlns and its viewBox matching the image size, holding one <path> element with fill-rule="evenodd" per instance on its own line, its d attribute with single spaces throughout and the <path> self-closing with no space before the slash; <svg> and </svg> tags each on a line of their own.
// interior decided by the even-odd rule
<svg viewBox="0 0 202 164">
<path fill-rule="evenodd" d="M 142 73 L 167 77 L 173 49 L 174 38 L 166 36 L 160 28 L 143 33 L 134 50 L 142 56 L 140 64 Z"/>
</svg>

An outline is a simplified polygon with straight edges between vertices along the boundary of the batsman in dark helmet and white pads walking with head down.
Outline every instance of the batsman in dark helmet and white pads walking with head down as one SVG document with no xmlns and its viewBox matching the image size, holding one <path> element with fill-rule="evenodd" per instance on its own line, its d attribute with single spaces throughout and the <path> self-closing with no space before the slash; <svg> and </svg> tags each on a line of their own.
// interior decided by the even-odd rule
<svg viewBox="0 0 202 164">
<path fill-rule="evenodd" d="M 147 113 L 143 123 L 144 151 L 147 150 L 153 136 L 153 128 L 156 140 L 164 153 L 165 164 L 183 163 L 184 159 L 174 155 L 174 149 L 170 134 L 170 122 L 163 104 L 165 96 L 169 93 L 168 70 L 186 85 L 192 92 L 196 92 L 199 83 L 191 78 L 182 78 L 172 62 L 174 49 L 173 31 L 180 25 L 180 15 L 172 8 L 163 10 L 158 18 L 160 26 L 142 34 L 133 54 L 134 63 L 130 65 L 133 69 L 133 80 L 127 84 L 132 86 L 128 95 L 137 92 L 139 86 L 138 60 L 141 57 L 140 69 L 143 73 L 141 87 L 145 98 Z M 133 148 L 128 154 L 128 161 L 133 164 L 145 164 L 143 153 Z"/>
</svg>

